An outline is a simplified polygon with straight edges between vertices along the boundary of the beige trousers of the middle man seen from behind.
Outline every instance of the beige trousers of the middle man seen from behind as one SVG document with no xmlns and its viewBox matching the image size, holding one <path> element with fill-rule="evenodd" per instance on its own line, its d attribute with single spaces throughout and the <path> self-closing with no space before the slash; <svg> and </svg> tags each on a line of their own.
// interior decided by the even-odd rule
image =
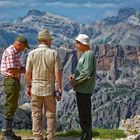
<svg viewBox="0 0 140 140">
<path fill-rule="evenodd" d="M 56 100 L 52 96 L 35 96 L 31 97 L 33 136 L 34 140 L 43 140 L 43 110 L 47 118 L 47 140 L 54 140 L 56 127 Z M 44 109 L 43 109 L 44 107 Z"/>
</svg>

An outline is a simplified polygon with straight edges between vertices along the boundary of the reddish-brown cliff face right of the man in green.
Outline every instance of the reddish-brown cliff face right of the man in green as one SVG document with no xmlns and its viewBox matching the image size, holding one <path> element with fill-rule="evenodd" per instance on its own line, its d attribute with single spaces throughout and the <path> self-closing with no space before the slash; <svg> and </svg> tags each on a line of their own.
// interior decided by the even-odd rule
<svg viewBox="0 0 140 140">
<path fill-rule="evenodd" d="M 129 63 L 139 64 L 140 49 L 132 46 L 103 45 L 95 46 L 97 68 L 110 70 L 125 67 Z"/>
</svg>

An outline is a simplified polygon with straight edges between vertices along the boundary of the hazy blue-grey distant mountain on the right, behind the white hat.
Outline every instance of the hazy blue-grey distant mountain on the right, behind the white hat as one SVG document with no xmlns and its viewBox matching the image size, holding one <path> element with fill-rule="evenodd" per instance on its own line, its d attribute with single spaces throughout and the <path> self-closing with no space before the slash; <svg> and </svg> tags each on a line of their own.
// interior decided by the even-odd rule
<svg viewBox="0 0 140 140">
<path fill-rule="evenodd" d="M 81 26 L 92 38 L 92 44 L 117 44 L 139 46 L 140 13 L 133 8 L 120 9 L 113 17 L 103 19 L 91 25 Z"/>
</svg>

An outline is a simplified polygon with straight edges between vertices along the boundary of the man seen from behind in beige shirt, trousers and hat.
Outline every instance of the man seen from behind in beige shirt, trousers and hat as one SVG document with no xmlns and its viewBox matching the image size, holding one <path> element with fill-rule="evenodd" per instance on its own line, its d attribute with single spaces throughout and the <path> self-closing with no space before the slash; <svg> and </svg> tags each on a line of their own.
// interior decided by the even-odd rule
<svg viewBox="0 0 140 140">
<path fill-rule="evenodd" d="M 43 140 L 43 107 L 47 118 L 47 140 L 54 140 L 56 125 L 55 80 L 62 95 L 62 65 L 58 53 L 51 49 L 48 30 L 38 33 L 38 48 L 32 50 L 26 63 L 27 96 L 31 96 L 34 140 Z"/>
</svg>

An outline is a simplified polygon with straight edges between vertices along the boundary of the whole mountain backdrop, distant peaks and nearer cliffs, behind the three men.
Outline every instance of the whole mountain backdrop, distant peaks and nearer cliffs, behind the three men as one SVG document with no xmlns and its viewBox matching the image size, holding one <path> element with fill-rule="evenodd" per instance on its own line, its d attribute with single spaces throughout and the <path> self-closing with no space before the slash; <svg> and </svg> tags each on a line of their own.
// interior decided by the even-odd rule
<svg viewBox="0 0 140 140">
<path fill-rule="evenodd" d="M 14 23 L 0 23 L 0 46 L 9 45 L 18 34 L 36 45 L 38 31 L 47 28 L 54 36 L 53 46 L 63 64 L 63 99 L 57 103 L 57 130 L 79 128 L 75 93 L 68 77 L 74 73 L 79 54 L 74 38 L 86 33 L 97 58 L 96 88 L 92 96 L 93 127 L 117 128 L 122 119 L 140 114 L 140 14 L 133 8 L 120 9 L 117 16 L 90 25 L 79 25 L 67 18 L 31 10 Z M 26 50 L 27 51 L 27 50 Z M 25 64 L 28 52 L 24 52 Z M 0 77 L 0 103 L 4 103 Z M 26 97 L 25 77 L 14 128 L 31 128 L 30 99 Z M 21 113 L 22 112 L 22 113 Z M 2 122 L 0 108 L 0 127 Z M 24 117 L 23 117 L 24 116 Z"/>
</svg>

